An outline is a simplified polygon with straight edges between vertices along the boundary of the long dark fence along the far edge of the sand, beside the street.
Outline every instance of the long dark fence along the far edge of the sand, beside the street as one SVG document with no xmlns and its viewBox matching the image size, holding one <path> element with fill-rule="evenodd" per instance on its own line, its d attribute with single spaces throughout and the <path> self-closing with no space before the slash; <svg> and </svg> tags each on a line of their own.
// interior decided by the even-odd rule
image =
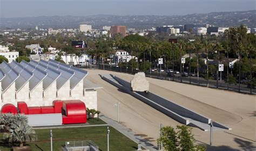
<svg viewBox="0 0 256 151">
<path fill-rule="evenodd" d="M 110 64 L 89 64 L 88 66 L 80 66 L 79 68 L 90 68 L 90 69 L 102 69 L 102 70 L 111 70 L 111 71 L 117 71 L 120 73 L 127 73 L 127 74 L 136 74 L 141 70 L 137 69 L 130 69 L 130 68 L 120 68 L 116 66 L 110 66 Z M 160 80 L 168 80 L 168 81 L 174 81 L 174 82 L 181 82 L 186 84 L 192 84 L 192 85 L 198 85 L 201 87 L 207 87 L 207 80 L 205 80 L 202 77 L 195 77 L 195 76 L 181 76 L 180 74 L 174 74 L 174 76 L 169 77 L 165 72 L 158 72 L 158 71 L 146 71 L 145 72 L 146 77 L 151 78 L 158 78 Z M 215 88 L 215 89 L 223 89 L 223 90 L 229 90 L 229 91 L 235 91 L 240 92 L 244 94 L 252 94 L 256 95 L 256 89 L 248 88 L 247 84 L 228 84 L 225 83 L 224 80 L 208 80 L 208 87 L 209 88 Z"/>
</svg>

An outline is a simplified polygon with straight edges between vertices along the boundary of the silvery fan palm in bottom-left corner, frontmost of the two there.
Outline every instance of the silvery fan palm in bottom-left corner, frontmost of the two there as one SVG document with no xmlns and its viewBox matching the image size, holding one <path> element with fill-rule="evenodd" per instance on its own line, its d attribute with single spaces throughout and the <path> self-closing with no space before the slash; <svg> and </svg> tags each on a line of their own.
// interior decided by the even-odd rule
<svg viewBox="0 0 256 151">
<path fill-rule="evenodd" d="M 23 143 L 36 140 L 36 132 L 32 130 L 28 123 L 17 121 L 12 124 L 9 133 L 4 133 L 3 138 L 9 142 L 18 142 L 19 147 L 23 147 Z"/>
</svg>

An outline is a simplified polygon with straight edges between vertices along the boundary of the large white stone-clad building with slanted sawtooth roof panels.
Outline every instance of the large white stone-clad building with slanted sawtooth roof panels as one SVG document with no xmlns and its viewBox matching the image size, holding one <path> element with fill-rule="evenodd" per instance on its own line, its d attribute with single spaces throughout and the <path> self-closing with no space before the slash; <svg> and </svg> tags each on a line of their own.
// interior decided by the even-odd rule
<svg viewBox="0 0 256 151">
<path fill-rule="evenodd" d="M 17 106 L 49 106 L 53 100 L 82 100 L 89 109 L 97 110 L 98 85 L 85 79 L 86 70 L 67 66 L 54 60 L 29 63 L 13 61 L 0 64 L 1 102 Z"/>
</svg>

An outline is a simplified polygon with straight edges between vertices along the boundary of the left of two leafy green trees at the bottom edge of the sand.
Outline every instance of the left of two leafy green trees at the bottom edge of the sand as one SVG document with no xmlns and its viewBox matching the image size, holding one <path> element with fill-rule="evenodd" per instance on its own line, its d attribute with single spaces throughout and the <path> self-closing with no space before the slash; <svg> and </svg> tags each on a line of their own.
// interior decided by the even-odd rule
<svg viewBox="0 0 256 151">
<path fill-rule="evenodd" d="M 178 138 L 173 127 L 165 126 L 162 128 L 162 136 L 157 139 L 158 144 L 161 142 L 163 143 L 165 150 L 178 150 Z"/>
</svg>

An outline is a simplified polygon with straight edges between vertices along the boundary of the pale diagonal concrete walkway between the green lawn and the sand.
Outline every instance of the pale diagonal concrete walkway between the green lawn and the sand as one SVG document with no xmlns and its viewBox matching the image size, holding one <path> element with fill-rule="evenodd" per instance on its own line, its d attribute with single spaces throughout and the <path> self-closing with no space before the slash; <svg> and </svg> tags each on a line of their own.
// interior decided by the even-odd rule
<svg viewBox="0 0 256 151">
<path fill-rule="evenodd" d="M 158 150 L 156 146 L 152 145 L 151 142 L 147 141 L 141 136 L 136 135 L 136 133 L 132 132 L 131 130 L 127 129 L 121 124 L 118 124 L 117 121 L 114 121 L 110 118 L 107 118 L 105 116 L 100 116 L 100 119 L 105 121 L 105 123 L 109 124 L 109 126 L 112 126 L 114 129 L 119 131 L 120 133 L 124 134 L 127 138 L 133 140 L 136 143 L 141 143 L 142 147 L 145 149 L 149 149 L 150 151 Z M 111 132 L 110 132 L 111 135 Z"/>
</svg>

